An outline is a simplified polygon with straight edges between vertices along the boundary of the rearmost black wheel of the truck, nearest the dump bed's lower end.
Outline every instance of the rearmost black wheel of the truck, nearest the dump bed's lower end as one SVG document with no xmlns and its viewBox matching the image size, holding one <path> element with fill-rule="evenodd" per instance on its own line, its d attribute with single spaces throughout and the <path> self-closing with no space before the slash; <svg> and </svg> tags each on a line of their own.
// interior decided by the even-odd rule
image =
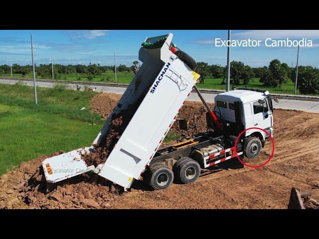
<svg viewBox="0 0 319 239">
<path fill-rule="evenodd" d="M 157 164 L 150 167 L 150 186 L 154 190 L 161 190 L 168 188 L 174 180 L 173 171 L 166 165 Z"/>
</svg>

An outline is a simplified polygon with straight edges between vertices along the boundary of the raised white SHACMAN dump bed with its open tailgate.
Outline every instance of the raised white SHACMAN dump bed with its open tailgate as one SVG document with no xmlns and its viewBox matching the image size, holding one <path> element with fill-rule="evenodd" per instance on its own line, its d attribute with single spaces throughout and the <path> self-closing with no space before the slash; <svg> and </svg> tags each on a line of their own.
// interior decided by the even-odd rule
<svg viewBox="0 0 319 239">
<path fill-rule="evenodd" d="M 103 125 L 91 147 L 76 149 L 42 162 L 48 182 L 58 182 L 95 170 L 100 176 L 130 188 L 139 179 L 175 121 L 179 109 L 199 75 L 173 52 L 172 34 L 147 38 L 139 51 L 139 72 Z M 95 168 L 83 160 L 85 154 L 106 137 L 111 121 L 119 114 L 132 115 L 106 162 Z M 68 171 L 68 169 L 71 169 Z"/>
</svg>

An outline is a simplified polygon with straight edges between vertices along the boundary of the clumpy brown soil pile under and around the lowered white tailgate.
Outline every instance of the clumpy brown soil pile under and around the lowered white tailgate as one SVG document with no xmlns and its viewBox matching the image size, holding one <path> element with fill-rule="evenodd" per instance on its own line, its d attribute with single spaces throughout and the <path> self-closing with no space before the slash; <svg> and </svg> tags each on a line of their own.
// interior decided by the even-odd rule
<svg viewBox="0 0 319 239">
<path fill-rule="evenodd" d="M 1 176 L 0 208 L 109 208 L 111 202 L 120 197 L 120 188 L 94 174 L 79 175 L 58 184 L 46 183 L 40 167 L 45 158 L 46 155 L 41 155 L 22 162 L 19 168 Z"/>
</svg>

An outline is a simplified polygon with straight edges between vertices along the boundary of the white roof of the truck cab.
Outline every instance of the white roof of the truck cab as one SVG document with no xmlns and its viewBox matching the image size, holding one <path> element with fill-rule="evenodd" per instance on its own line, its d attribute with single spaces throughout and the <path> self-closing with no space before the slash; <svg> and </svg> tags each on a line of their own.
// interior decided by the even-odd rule
<svg viewBox="0 0 319 239">
<path fill-rule="evenodd" d="M 269 95 L 268 91 L 262 93 L 262 92 L 256 92 L 256 91 L 250 91 L 250 90 L 233 90 L 233 91 L 228 91 L 228 92 L 218 94 L 215 97 L 215 100 L 228 101 L 228 102 L 239 101 L 242 103 L 248 103 L 248 102 L 265 98 L 267 97 L 267 95 Z"/>
</svg>

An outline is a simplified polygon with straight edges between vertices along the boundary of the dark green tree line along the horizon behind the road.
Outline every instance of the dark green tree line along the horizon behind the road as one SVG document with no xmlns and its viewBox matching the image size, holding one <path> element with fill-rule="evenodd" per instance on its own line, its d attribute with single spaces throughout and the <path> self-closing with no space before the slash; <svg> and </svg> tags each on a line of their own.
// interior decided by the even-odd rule
<svg viewBox="0 0 319 239">
<path fill-rule="evenodd" d="M 133 65 L 128 67 L 126 65 L 117 66 L 118 72 L 135 72 L 137 71 L 138 61 L 134 61 Z M 36 74 L 40 77 L 49 77 L 52 75 L 51 64 L 40 64 L 35 66 Z M 89 64 L 88 66 L 77 65 L 54 65 L 54 77 L 59 79 L 61 74 L 88 74 L 88 78 L 102 75 L 102 73 L 113 71 L 115 66 L 101 66 L 100 64 Z M 221 78 L 221 84 L 226 84 L 227 66 L 208 65 L 205 62 L 198 62 L 195 71 L 201 75 L 200 83 L 204 83 L 205 78 Z M 32 72 L 32 66 L 20 66 L 18 64 L 12 65 L 13 74 L 21 74 L 25 76 Z M 10 73 L 10 66 L 0 65 L 0 74 Z M 250 67 L 241 61 L 232 61 L 230 63 L 230 78 L 232 85 L 246 85 L 252 78 L 260 78 L 263 86 L 280 87 L 286 83 L 290 78 L 295 82 L 296 69 L 289 67 L 287 63 L 281 63 L 278 59 L 272 60 L 268 67 Z M 312 66 L 300 66 L 298 70 L 298 88 L 301 94 L 319 94 L 319 69 Z"/>
</svg>

